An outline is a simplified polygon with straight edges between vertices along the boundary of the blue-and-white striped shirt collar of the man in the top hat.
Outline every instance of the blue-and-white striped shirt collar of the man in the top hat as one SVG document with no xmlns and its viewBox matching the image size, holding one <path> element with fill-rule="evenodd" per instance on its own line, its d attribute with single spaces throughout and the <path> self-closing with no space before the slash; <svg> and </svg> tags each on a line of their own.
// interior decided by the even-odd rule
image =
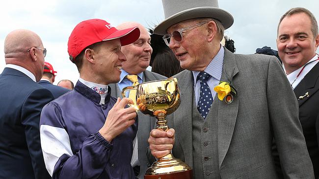
<svg viewBox="0 0 319 179">
<path fill-rule="evenodd" d="M 223 68 L 223 61 L 224 61 L 224 48 L 220 45 L 220 49 L 217 54 L 214 56 L 211 63 L 205 68 L 205 72 L 210 74 L 213 78 L 220 81 L 222 68 Z M 194 85 L 196 84 L 196 79 L 200 71 L 192 71 L 194 77 Z"/>
</svg>

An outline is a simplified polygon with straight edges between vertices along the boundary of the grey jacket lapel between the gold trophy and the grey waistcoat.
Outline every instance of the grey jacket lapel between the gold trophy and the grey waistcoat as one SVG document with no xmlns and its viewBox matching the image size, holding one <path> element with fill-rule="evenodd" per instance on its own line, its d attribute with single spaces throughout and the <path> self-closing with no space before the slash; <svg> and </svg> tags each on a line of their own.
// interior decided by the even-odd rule
<svg viewBox="0 0 319 179">
<path fill-rule="evenodd" d="M 178 85 L 181 90 L 181 104 L 179 109 L 173 113 L 174 127 L 178 134 L 178 140 L 184 151 L 185 161 L 193 164 L 193 142 L 192 142 L 192 104 L 193 104 L 193 74 L 189 70 L 181 73 Z"/>
</svg>

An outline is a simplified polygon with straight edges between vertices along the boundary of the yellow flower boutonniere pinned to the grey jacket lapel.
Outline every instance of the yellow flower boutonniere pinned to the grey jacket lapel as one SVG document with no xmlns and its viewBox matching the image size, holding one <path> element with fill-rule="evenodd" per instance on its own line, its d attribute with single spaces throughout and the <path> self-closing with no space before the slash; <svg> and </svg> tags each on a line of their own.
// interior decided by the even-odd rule
<svg viewBox="0 0 319 179">
<path fill-rule="evenodd" d="M 225 100 L 227 104 L 233 102 L 234 96 L 236 96 L 236 89 L 228 82 L 221 81 L 219 85 L 214 88 L 214 91 L 218 94 L 220 101 Z"/>
</svg>

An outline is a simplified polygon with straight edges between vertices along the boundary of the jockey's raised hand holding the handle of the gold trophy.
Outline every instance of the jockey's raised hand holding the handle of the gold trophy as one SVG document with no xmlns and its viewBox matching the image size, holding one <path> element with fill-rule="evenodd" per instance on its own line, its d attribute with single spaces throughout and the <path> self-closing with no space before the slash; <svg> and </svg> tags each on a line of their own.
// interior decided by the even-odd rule
<svg viewBox="0 0 319 179">
<path fill-rule="evenodd" d="M 125 108 L 127 104 L 134 104 L 134 102 L 129 98 L 117 98 L 113 108 L 108 112 L 104 126 L 99 130 L 99 133 L 108 142 L 134 124 L 135 109 L 133 107 Z"/>
</svg>

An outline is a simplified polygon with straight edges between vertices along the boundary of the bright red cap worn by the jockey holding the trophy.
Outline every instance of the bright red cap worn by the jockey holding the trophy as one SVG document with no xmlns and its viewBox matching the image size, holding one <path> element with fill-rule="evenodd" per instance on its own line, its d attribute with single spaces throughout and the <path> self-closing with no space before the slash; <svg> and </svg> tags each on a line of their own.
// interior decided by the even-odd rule
<svg viewBox="0 0 319 179">
<path fill-rule="evenodd" d="M 135 42 L 140 35 L 138 27 L 117 30 L 111 24 L 100 19 L 90 19 L 80 22 L 72 31 L 68 42 L 70 60 L 75 58 L 87 46 L 120 38 L 121 45 L 129 45 Z"/>
</svg>

